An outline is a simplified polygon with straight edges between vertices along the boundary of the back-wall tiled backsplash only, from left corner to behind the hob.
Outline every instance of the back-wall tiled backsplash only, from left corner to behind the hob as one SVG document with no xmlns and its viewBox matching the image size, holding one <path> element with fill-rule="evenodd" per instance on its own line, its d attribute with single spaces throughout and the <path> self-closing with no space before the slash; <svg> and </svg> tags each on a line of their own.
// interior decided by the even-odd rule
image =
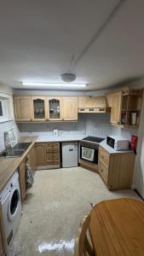
<svg viewBox="0 0 144 256">
<path fill-rule="evenodd" d="M 102 114 L 78 114 L 78 122 L 67 122 L 67 123 L 39 123 L 39 124 L 19 124 L 18 128 L 20 133 L 23 132 L 45 132 L 45 131 L 78 131 L 87 133 L 95 137 L 107 137 L 107 134 L 111 133 L 112 125 L 109 123 L 109 113 Z"/>
</svg>

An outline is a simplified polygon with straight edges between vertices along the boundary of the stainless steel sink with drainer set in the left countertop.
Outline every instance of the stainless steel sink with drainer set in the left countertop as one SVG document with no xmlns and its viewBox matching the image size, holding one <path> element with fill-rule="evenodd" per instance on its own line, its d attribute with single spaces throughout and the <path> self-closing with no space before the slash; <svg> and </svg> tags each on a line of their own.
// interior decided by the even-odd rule
<svg viewBox="0 0 144 256">
<path fill-rule="evenodd" d="M 20 157 L 32 143 L 17 143 L 13 148 L 4 150 L 0 157 Z"/>
</svg>

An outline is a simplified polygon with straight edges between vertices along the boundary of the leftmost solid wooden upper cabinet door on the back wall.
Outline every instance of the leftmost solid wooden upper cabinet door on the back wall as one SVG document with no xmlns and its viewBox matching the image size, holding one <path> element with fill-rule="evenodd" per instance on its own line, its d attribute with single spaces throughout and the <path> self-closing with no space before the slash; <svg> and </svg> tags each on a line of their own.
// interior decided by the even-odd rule
<svg viewBox="0 0 144 256">
<path fill-rule="evenodd" d="M 31 121 L 31 96 L 14 96 L 14 118 L 16 121 Z"/>
</svg>

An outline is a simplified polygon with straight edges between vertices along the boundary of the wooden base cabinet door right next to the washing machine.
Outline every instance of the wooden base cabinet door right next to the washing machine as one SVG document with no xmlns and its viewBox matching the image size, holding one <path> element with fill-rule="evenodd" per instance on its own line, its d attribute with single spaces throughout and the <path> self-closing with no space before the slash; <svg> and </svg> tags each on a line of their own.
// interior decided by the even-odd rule
<svg viewBox="0 0 144 256">
<path fill-rule="evenodd" d="M 21 200 L 24 201 L 26 196 L 26 159 L 20 163 L 19 177 L 20 177 Z"/>
</svg>

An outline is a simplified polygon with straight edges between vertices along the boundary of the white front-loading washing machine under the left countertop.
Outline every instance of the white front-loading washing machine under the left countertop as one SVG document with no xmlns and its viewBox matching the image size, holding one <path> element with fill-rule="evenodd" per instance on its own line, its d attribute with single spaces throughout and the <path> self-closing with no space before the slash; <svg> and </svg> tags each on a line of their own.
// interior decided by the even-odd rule
<svg viewBox="0 0 144 256">
<path fill-rule="evenodd" d="M 14 239 L 14 234 L 20 224 L 21 201 L 19 174 L 14 172 L 9 182 L 0 192 L 0 204 L 3 217 L 3 236 L 5 250 L 8 253 L 9 247 Z"/>
</svg>

